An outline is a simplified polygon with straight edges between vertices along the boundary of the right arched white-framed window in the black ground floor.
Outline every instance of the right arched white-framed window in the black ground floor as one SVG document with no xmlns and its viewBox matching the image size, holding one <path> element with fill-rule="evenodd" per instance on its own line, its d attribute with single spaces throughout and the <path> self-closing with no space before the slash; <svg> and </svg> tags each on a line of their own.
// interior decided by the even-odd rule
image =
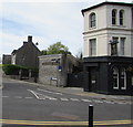
<svg viewBox="0 0 133 127">
<path fill-rule="evenodd" d="M 121 88 L 126 89 L 126 73 L 124 68 L 121 71 Z"/>
</svg>

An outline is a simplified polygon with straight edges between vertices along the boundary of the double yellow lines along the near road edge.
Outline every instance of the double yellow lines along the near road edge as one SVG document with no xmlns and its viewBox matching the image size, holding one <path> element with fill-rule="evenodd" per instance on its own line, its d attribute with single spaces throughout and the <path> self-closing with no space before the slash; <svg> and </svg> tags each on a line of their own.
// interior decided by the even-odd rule
<svg viewBox="0 0 133 127">
<path fill-rule="evenodd" d="M 0 124 L 12 124 L 12 125 L 89 125 L 89 121 L 35 121 L 35 120 L 14 120 L 14 119 L 0 119 Z M 104 120 L 104 121 L 94 121 L 94 125 L 125 125 L 133 124 L 133 119 L 129 120 Z"/>
</svg>

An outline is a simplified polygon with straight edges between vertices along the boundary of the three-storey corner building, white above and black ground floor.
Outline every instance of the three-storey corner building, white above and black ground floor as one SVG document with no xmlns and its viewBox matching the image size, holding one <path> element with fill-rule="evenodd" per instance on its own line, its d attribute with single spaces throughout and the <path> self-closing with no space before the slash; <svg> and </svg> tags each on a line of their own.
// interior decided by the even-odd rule
<svg viewBox="0 0 133 127">
<path fill-rule="evenodd" d="M 131 94 L 133 3 L 102 2 L 82 10 L 84 91 Z"/>
</svg>

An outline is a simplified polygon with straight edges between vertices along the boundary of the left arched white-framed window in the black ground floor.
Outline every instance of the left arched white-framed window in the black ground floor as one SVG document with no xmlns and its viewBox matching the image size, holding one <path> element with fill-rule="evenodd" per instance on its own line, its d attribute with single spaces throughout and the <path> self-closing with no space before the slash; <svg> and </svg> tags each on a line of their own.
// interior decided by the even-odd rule
<svg viewBox="0 0 133 127">
<path fill-rule="evenodd" d="M 113 68 L 113 88 L 119 89 L 119 70 Z"/>
</svg>

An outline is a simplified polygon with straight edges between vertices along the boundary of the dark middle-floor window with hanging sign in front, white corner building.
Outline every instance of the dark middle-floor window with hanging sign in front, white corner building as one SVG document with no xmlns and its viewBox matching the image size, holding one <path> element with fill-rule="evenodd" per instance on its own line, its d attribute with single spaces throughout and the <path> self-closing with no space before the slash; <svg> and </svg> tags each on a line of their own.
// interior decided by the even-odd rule
<svg viewBox="0 0 133 127">
<path fill-rule="evenodd" d="M 117 55 L 117 43 L 119 43 L 119 38 L 112 38 L 112 43 L 111 43 L 111 55 Z"/>
</svg>

